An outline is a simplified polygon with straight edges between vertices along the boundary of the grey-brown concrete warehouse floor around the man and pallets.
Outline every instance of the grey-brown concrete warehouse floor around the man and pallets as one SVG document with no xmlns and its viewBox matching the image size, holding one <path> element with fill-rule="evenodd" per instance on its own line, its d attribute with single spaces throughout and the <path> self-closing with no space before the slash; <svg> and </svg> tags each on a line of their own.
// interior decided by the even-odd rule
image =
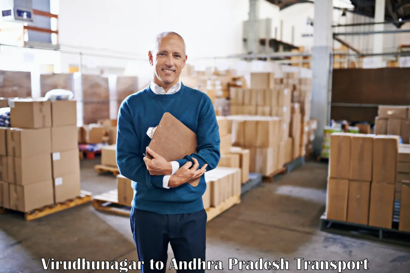
<svg viewBox="0 0 410 273">
<path fill-rule="evenodd" d="M 96 174 L 95 164 L 98 161 L 81 162 L 82 188 L 94 195 L 114 189 L 114 177 Z M 319 231 L 319 217 L 325 209 L 326 176 L 327 165 L 307 162 L 279 176 L 274 183 L 264 183 L 245 194 L 239 205 L 207 223 L 207 260 L 222 261 L 223 270 L 219 272 L 239 272 L 237 266 L 228 270 L 229 258 L 284 258 L 289 261 L 289 270 L 279 272 L 301 272 L 294 258 L 368 259 L 368 272 L 410 272 L 409 247 Z M 169 262 L 172 257 L 170 248 Z M 137 261 L 129 219 L 96 211 L 91 203 L 30 222 L 25 222 L 20 214 L 0 215 L 0 272 L 44 272 L 41 258 Z"/>
</svg>

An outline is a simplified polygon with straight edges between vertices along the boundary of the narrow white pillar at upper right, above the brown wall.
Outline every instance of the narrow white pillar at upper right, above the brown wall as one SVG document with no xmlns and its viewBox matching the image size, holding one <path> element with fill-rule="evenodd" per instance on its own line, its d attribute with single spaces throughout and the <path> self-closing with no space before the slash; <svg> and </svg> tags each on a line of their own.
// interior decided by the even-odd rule
<svg viewBox="0 0 410 273">
<path fill-rule="evenodd" d="M 376 0 L 375 9 L 374 9 L 374 22 L 384 22 L 385 20 L 385 0 Z M 384 31 L 385 25 L 378 24 L 374 25 L 374 31 Z M 383 53 L 383 34 L 374 34 L 373 36 L 373 52 L 374 53 Z M 373 63 L 375 67 L 381 67 L 383 64 L 382 56 L 374 56 Z"/>
</svg>

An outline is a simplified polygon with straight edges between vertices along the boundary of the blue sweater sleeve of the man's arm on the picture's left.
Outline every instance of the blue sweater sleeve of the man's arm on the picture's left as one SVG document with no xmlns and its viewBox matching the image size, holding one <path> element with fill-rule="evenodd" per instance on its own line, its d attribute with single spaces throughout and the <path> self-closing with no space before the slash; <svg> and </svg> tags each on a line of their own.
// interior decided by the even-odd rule
<svg viewBox="0 0 410 273">
<path fill-rule="evenodd" d="M 134 129 L 128 100 L 125 100 L 118 113 L 116 159 L 120 174 L 148 187 L 163 187 L 164 176 L 149 174 L 142 155 L 139 154 L 141 140 Z"/>
</svg>

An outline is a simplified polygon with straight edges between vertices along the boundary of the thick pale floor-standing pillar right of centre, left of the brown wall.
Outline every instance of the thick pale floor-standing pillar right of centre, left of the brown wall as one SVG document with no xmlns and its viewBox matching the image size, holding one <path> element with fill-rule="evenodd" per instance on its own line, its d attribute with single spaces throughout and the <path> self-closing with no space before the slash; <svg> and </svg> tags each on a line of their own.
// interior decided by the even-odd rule
<svg viewBox="0 0 410 273">
<path fill-rule="evenodd" d="M 312 48 L 312 113 L 318 127 L 313 142 L 314 152 L 320 154 L 323 128 L 330 122 L 330 54 L 333 46 L 333 1 L 314 1 L 314 34 Z"/>
</svg>

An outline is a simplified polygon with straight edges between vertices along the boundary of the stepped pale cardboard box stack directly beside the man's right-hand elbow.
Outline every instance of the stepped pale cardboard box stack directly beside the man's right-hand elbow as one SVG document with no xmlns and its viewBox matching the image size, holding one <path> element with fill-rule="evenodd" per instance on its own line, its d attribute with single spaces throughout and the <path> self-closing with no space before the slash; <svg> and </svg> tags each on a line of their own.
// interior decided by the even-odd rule
<svg viewBox="0 0 410 273">
<path fill-rule="evenodd" d="M 221 159 L 218 166 L 241 169 L 241 182 L 246 183 L 249 180 L 250 151 L 232 147 L 231 120 L 222 116 L 217 116 L 216 120 L 221 138 Z"/>
</svg>

